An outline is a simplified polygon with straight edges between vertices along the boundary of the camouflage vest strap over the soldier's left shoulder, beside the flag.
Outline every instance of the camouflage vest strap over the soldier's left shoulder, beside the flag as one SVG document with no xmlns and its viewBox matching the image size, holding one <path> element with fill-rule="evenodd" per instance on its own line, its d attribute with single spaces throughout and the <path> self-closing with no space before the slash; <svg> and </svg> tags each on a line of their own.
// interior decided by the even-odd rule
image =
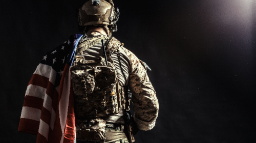
<svg viewBox="0 0 256 143">
<path fill-rule="evenodd" d="M 101 40 L 109 39 L 105 35 L 95 36 L 83 43 L 79 44 L 76 48 L 76 55 L 81 55 L 84 50 L 94 46 L 95 44 L 99 43 Z"/>
</svg>

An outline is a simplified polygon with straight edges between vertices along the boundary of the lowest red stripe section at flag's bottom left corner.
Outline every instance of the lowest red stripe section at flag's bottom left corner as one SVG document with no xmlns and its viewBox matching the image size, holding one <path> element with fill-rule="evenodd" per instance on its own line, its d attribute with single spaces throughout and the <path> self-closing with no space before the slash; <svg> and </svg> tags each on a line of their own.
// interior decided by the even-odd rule
<svg viewBox="0 0 256 143">
<path fill-rule="evenodd" d="M 18 131 L 37 135 L 39 122 L 31 119 L 21 118 L 19 120 Z"/>
</svg>

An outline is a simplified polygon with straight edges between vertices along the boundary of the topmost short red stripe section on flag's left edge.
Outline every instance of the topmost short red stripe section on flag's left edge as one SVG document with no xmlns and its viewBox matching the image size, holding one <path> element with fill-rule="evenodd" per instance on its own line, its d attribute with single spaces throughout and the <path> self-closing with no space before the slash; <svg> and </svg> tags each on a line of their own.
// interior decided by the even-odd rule
<svg viewBox="0 0 256 143">
<path fill-rule="evenodd" d="M 48 82 L 49 82 L 49 78 L 45 76 L 41 76 L 39 74 L 33 74 L 28 85 L 33 84 L 33 85 L 38 85 L 42 88 L 47 88 Z"/>
</svg>

